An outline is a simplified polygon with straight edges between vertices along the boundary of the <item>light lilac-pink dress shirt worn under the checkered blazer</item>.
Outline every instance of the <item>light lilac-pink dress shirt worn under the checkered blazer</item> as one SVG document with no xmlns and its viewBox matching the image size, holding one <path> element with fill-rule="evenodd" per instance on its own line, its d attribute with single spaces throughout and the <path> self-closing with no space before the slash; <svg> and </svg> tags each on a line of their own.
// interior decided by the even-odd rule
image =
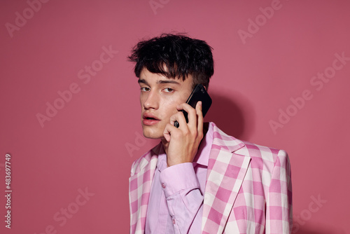
<svg viewBox="0 0 350 234">
<path fill-rule="evenodd" d="M 148 203 L 145 233 L 201 233 L 203 195 L 213 127 L 209 129 L 193 163 L 167 167 L 160 149 Z"/>
</svg>

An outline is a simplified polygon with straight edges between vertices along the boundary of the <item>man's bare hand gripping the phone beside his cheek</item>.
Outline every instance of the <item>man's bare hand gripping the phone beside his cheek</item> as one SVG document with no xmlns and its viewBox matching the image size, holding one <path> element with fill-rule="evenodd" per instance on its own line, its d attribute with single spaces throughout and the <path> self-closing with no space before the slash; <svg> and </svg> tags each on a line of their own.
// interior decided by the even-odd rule
<svg viewBox="0 0 350 234">
<path fill-rule="evenodd" d="M 196 109 L 186 103 L 176 106 L 176 109 L 179 112 L 170 117 L 170 123 L 163 132 L 167 140 L 165 152 L 168 167 L 179 163 L 192 163 L 203 138 L 202 102 L 197 102 Z M 188 123 L 182 109 L 188 113 Z M 175 121 L 179 122 L 179 128 L 174 126 Z"/>
</svg>

